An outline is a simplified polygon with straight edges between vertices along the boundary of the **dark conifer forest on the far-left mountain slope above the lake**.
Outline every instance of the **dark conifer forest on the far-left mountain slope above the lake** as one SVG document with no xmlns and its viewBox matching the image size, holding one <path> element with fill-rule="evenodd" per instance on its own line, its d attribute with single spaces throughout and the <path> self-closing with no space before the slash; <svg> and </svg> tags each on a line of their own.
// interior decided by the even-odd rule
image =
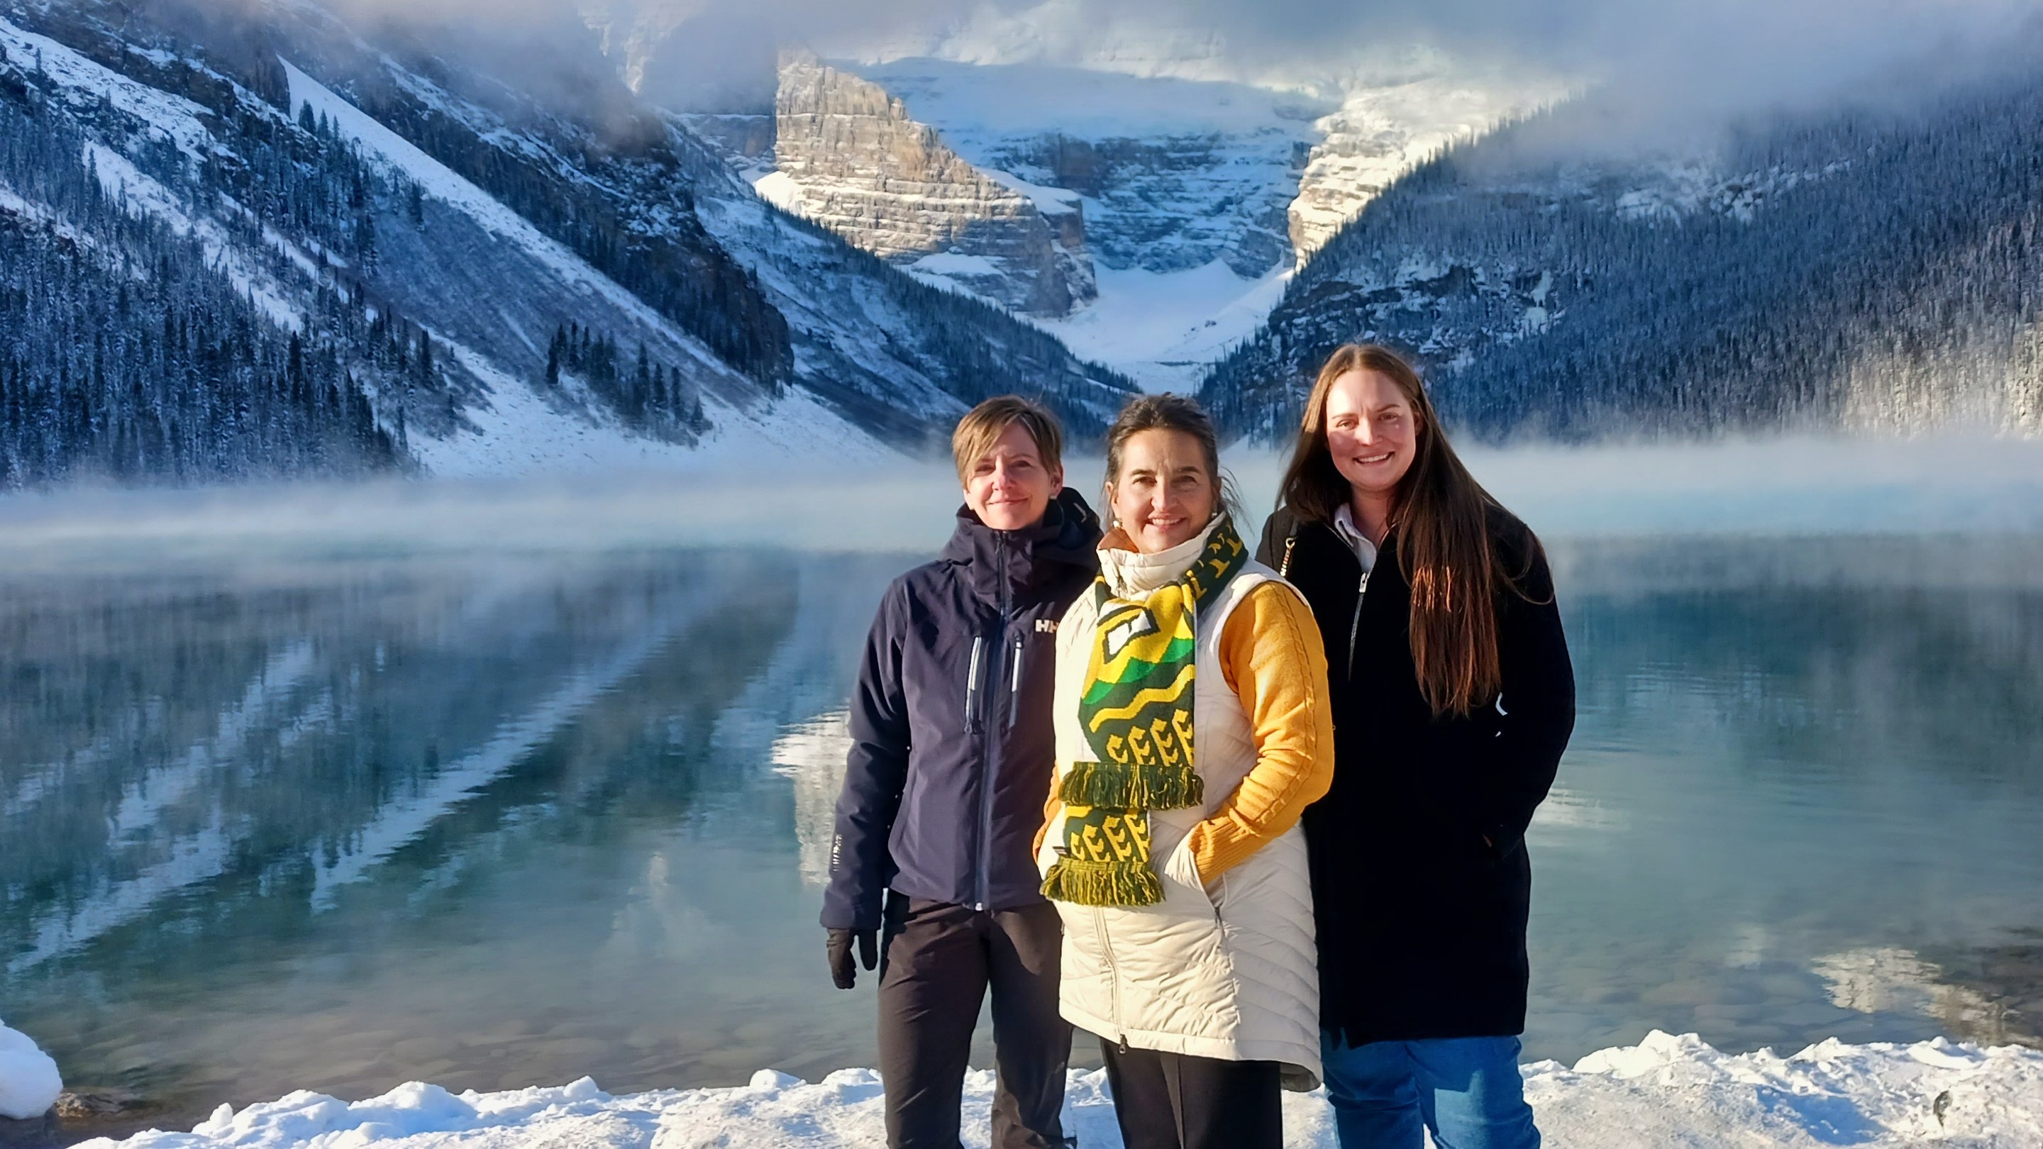
<svg viewBox="0 0 2043 1149">
<path fill-rule="evenodd" d="M 407 466 L 409 405 L 384 425 L 368 390 L 443 395 L 431 339 L 343 292 L 323 296 L 302 329 L 280 323 L 196 231 L 108 194 L 100 153 L 37 74 L 0 72 L 0 487 Z M 245 129 L 247 170 L 188 178 L 300 221 L 331 251 L 372 258 L 370 204 L 405 190 L 331 141 Z M 170 143 L 149 168 L 188 172 Z M 243 227 L 264 225 L 243 213 Z"/>
</svg>

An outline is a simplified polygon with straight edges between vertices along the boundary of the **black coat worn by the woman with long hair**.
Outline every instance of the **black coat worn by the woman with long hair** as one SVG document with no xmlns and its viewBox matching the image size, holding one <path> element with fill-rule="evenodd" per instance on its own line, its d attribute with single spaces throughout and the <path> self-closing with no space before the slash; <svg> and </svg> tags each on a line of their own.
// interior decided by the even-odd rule
<svg viewBox="0 0 2043 1149">
<path fill-rule="evenodd" d="M 1524 523 L 1493 511 L 1489 525 L 1504 568 L 1524 568 Z M 1361 562 L 1328 523 L 1279 509 L 1256 558 L 1287 570 L 1326 640 L 1334 785 L 1303 818 L 1322 1024 L 1350 1045 L 1524 1032 L 1524 832 L 1575 728 L 1545 556 L 1524 597 L 1495 599 L 1504 691 L 1467 718 L 1434 718 L 1420 695 L 1395 532 L 1359 603 Z"/>
</svg>

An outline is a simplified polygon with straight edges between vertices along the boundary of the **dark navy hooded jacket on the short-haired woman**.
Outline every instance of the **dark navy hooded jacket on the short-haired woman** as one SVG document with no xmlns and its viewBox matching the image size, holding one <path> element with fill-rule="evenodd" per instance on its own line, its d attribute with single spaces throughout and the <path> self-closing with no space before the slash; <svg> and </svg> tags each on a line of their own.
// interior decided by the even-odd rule
<svg viewBox="0 0 2043 1149">
<path fill-rule="evenodd" d="M 823 926 L 876 930 L 887 889 L 985 910 L 1042 902 L 1030 846 L 1056 771 L 1056 622 L 1099 572 L 1075 491 L 995 532 L 970 509 L 895 579 L 852 695 Z"/>
</svg>

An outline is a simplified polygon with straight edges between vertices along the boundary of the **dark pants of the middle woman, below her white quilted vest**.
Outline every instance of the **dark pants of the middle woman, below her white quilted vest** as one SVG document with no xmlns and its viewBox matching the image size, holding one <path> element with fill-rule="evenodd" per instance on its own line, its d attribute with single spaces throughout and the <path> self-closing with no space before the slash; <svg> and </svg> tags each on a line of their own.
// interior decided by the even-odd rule
<svg viewBox="0 0 2043 1149">
<path fill-rule="evenodd" d="M 1099 1039 L 1128 1149 L 1283 1149 L 1275 1061 L 1220 1061 Z"/>
</svg>

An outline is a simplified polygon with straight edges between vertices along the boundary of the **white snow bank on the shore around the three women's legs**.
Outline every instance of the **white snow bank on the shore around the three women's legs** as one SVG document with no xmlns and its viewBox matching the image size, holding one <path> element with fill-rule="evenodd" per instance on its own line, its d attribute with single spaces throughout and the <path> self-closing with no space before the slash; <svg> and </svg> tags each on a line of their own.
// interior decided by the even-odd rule
<svg viewBox="0 0 2043 1149">
<path fill-rule="evenodd" d="M 1526 1094 L 1547 1141 L 1567 1147 L 1692 1145 L 1963 1145 L 2043 1147 L 2043 1053 L 1980 1049 L 1943 1039 L 1916 1045 L 1824 1041 L 1794 1057 L 1726 1055 L 1702 1039 L 1651 1032 L 1641 1045 L 1575 1063 L 1526 1065 Z M 964 1092 L 964 1143 L 985 1145 L 993 1073 Z M 1332 1149 L 1322 1094 L 1285 1096 L 1285 1143 Z M 1122 1143 L 1105 1073 L 1073 1073 L 1064 1133 L 1081 1145 Z M 409 1084 L 366 1102 L 296 1092 L 233 1112 L 221 1106 L 192 1133 L 141 1133 L 135 1149 L 825 1149 L 883 1145 L 881 1082 L 840 1069 L 805 1084 L 772 1069 L 748 1086 L 611 1098 L 582 1077 L 550 1090 L 454 1096 Z M 112 1145 L 108 1141 L 88 1145 Z"/>
</svg>

